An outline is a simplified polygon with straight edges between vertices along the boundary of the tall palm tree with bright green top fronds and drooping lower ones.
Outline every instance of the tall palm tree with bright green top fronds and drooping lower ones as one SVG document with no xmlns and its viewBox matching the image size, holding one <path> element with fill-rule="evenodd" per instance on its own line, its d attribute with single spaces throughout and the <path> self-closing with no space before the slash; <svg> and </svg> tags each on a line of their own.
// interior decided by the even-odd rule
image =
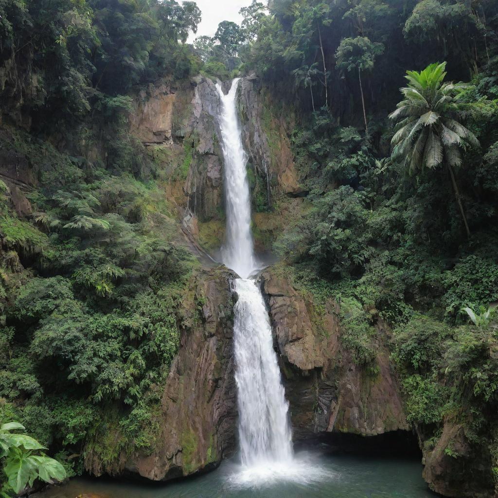
<svg viewBox="0 0 498 498">
<path fill-rule="evenodd" d="M 465 83 L 443 83 L 446 62 L 431 64 L 423 71 L 407 71 L 408 86 L 400 88 L 404 96 L 389 118 L 396 121 L 391 144 L 392 156 L 404 157 L 410 174 L 424 167 L 443 164 L 450 173 L 458 207 L 470 237 L 470 229 L 455 181 L 454 168 L 462 165 L 462 151 L 479 146 L 479 140 L 462 121 L 474 103 L 461 102 L 469 88 Z"/>
</svg>

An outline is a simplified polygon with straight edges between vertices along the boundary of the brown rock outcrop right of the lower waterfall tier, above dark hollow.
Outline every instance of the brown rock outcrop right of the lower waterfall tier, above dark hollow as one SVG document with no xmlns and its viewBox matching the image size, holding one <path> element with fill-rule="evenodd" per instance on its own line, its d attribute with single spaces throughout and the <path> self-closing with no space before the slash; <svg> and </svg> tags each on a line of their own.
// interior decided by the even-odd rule
<svg viewBox="0 0 498 498">
<path fill-rule="evenodd" d="M 378 374 L 371 377 L 341 345 L 334 302 L 327 303 L 323 315 L 271 269 L 261 278 L 295 438 L 324 432 L 373 436 L 408 430 L 385 340 L 377 344 Z M 385 331 L 378 332 L 385 338 Z"/>
</svg>

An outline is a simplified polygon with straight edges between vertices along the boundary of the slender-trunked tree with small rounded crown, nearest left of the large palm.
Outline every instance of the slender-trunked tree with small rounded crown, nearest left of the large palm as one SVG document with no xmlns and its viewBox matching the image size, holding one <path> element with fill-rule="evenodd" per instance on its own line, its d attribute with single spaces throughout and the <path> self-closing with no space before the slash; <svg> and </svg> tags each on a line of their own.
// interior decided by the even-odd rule
<svg viewBox="0 0 498 498">
<path fill-rule="evenodd" d="M 367 123 L 367 110 L 365 107 L 365 95 L 363 94 L 362 71 L 373 69 L 375 57 L 384 51 L 382 43 L 373 43 L 366 36 L 356 38 L 343 38 L 336 51 L 336 65 L 339 69 L 353 71 L 358 70 L 358 81 L 360 82 L 360 93 L 362 96 L 363 119 L 365 121 L 365 135 L 369 136 Z"/>
</svg>

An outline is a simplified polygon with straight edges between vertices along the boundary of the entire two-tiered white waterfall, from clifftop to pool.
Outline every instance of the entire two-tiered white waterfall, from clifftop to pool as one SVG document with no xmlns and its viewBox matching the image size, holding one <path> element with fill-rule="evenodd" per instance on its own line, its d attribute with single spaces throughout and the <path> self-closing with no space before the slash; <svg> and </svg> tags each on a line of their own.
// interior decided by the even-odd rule
<svg viewBox="0 0 498 498">
<path fill-rule="evenodd" d="M 237 116 L 239 79 L 227 95 L 217 85 L 222 103 L 220 126 L 225 158 L 227 238 L 223 262 L 242 278 L 234 281 L 235 380 L 239 403 L 239 438 L 245 469 L 256 474 L 287 472 L 293 459 L 289 405 L 273 351 L 271 326 L 261 291 L 248 278 L 257 267 L 250 229 L 247 156 Z"/>
</svg>

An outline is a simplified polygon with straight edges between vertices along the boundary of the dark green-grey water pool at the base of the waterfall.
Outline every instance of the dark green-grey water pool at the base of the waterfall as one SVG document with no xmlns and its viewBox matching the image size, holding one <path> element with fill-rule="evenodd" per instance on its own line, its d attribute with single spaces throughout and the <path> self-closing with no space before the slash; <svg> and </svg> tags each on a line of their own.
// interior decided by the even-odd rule
<svg viewBox="0 0 498 498">
<path fill-rule="evenodd" d="M 275 480 L 241 487 L 239 466 L 225 461 L 210 473 L 159 485 L 73 479 L 36 498 L 435 498 L 422 479 L 419 459 L 298 453 L 314 469 L 309 481 Z M 318 478 L 317 474 L 320 474 Z M 291 477 L 291 476 L 289 476 Z M 253 483 L 254 484 L 254 483 Z"/>
</svg>

